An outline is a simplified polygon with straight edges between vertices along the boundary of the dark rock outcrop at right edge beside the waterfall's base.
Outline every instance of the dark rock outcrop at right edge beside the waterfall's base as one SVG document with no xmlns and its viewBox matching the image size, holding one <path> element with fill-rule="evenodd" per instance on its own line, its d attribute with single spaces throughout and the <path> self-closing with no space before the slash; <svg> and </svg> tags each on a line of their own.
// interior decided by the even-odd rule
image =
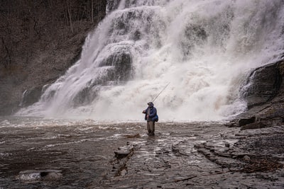
<svg viewBox="0 0 284 189">
<path fill-rule="evenodd" d="M 271 127 L 284 121 L 284 61 L 251 72 L 244 88 L 248 110 L 238 116 L 243 129 Z M 246 122 L 246 123 L 244 123 Z"/>
</svg>

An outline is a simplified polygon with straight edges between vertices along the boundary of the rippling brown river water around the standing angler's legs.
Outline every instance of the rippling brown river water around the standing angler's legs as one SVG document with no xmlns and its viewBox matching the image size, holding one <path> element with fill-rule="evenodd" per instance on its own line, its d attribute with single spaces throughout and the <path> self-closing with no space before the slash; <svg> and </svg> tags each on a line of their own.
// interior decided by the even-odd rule
<svg viewBox="0 0 284 189">
<path fill-rule="evenodd" d="M 155 137 L 146 122 L 96 122 L 1 117 L 0 187 L 124 188 L 163 183 L 188 170 L 216 168 L 193 148 L 217 139 L 232 144 L 236 132 L 222 122 L 158 122 Z M 127 168 L 114 175 L 114 151 L 136 150 Z M 178 149 L 182 156 L 176 156 Z M 155 178 L 155 181 L 153 181 Z M 132 186 L 131 186 L 132 185 Z"/>
</svg>

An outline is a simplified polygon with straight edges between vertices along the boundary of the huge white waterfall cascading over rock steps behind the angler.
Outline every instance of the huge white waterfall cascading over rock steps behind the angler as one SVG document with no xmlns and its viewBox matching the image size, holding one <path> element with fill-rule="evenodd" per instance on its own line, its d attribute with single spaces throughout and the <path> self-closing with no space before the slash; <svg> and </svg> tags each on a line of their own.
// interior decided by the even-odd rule
<svg viewBox="0 0 284 189">
<path fill-rule="evenodd" d="M 283 0 L 109 1 L 81 59 L 18 115 L 221 120 L 241 113 L 253 68 L 280 59 Z"/>
</svg>

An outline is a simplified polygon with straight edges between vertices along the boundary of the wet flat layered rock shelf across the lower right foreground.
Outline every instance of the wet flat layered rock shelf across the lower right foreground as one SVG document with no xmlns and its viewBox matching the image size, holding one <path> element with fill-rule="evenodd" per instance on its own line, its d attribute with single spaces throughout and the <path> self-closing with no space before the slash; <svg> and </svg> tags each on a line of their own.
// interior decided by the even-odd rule
<svg viewBox="0 0 284 189">
<path fill-rule="evenodd" d="M 169 174 L 168 180 L 153 179 L 144 186 L 129 181 L 132 179 L 136 181 L 137 178 L 133 175 L 141 173 L 141 165 L 138 164 L 142 162 L 137 161 L 135 156 L 141 151 L 141 147 L 128 143 L 125 147 L 119 147 L 118 151 L 114 151 L 114 159 L 110 161 L 113 166 L 112 171 L 99 182 L 92 184 L 92 187 L 111 188 L 115 185 L 113 181 L 118 179 L 117 181 L 125 183 L 123 186 L 116 185 L 119 188 L 283 188 L 283 134 L 282 125 L 234 134 L 223 133 L 218 139 L 195 144 L 194 149 L 203 155 L 201 159 L 206 158 L 214 164 L 214 168 L 209 168 L 210 171 L 205 171 L 206 173 L 203 171 L 208 162 L 190 165 L 194 168 L 182 168 L 185 164 L 182 164 L 184 161 L 180 162 L 180 159 L 192 159 L 192 153 L 185 151 L 184 146 L 190 146 L 189 141 L 179 142 L 170 149 L 161 149 L 155 154 L 156 163 L 148 163 L 146 168 L 141 168 L 142 171 L 150 172 L 149 174 L 154 178 L 162 174 L 160 170 L 158 171 L 159 168 L 163 169 L 163 174 L 173 172 L 172 175 Z M 153 143 L 148 145 L 151 144 Z M 166 159 L 165 156 L 174 157 Z M 180 167 L 172 166 L 177 163 Z M 133 166 L 136 167 L 135 172 Z M 155 168 L 156 166 L 158 169 Z M 185 171 L 186 174 L 178 173 L 176 168 Z M 102 187 L 97 187 L 101 184 Z"/>
</svg>

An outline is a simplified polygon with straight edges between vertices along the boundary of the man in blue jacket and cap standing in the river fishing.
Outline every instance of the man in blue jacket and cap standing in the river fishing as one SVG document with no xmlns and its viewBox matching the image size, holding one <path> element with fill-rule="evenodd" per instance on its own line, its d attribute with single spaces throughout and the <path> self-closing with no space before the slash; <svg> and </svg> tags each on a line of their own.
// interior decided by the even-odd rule
<svg viewBox="0 0 284 189">
<path fill-rule="evenodd" d="M 148 103 L 148 108 L 143 110 L 142 113 L 145 113 L 145 120 L 147 120 L 148 135 L 155 135 L 155 122 L 158 122 L 158 115 L 154 104 L 152 102 Z"/>
</svg>

